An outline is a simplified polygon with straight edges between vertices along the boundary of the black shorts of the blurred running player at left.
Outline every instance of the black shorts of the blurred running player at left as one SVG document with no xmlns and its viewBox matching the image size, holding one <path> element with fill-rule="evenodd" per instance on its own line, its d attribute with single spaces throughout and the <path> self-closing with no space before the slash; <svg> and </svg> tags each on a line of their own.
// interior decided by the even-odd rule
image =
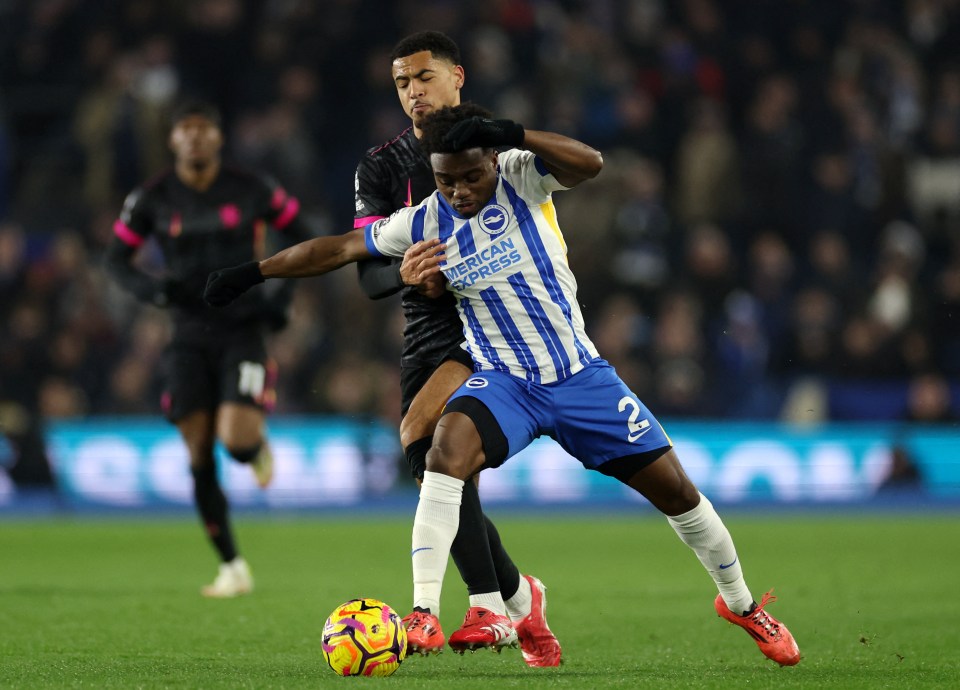
<svg viewBox="0 0 960 690">
<path fill-rule="evenodd" d="M 223 332 L 202 341 L 177 340 L 163 353 L 167 419 L 234 402 L 269 410 L 276 399 L 276 364 L 267 357 L 259 327 Z"/>
</svg>

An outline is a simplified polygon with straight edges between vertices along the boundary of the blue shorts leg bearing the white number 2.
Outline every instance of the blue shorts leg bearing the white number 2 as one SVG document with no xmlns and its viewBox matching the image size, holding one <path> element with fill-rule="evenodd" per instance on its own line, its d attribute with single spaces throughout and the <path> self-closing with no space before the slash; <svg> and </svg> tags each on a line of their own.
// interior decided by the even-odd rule
<svg viewBox="0 0 960 690">
<path fill-rule="evenodd" d="M 587 469 L 604 472 L 606 463 L 631 456 L 652 462 L 671 446 L 660 422 L 606 362 L 591 363 L 550 391 L 554 438 Z"/>
</svg>

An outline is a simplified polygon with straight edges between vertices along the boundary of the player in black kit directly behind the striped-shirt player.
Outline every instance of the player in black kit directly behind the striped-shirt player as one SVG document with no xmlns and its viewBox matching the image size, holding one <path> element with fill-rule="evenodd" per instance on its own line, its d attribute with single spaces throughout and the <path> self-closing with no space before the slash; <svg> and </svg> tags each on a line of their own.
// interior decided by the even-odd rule
<svg viewBox="0 0 960 690">
<path fill-rule="evenodd" d="M 398 208 L 416 206 L 436 191 L 430 161 L 420 148 L 420 123 L 428 114 L 460 103 L 464 71 L 460 50 L 448 36 L 437 31 L 411 34 L 396 45 L 390 59 L 400 103 L 413 124 L 393 140 L 370 149 L 357 166 L 355 228 Z M 462 347 L 463 326 L 441 277 L 418 284 L 408 264 L 399 259 L 364 261 L 359 272 L 369 297 L 379 299 L 402 291 L 406 328 L 400 361 L 400 441 L 419 482 L 440 412 L 473 372 L 473 360 Z M 463 625 L 450 636 L 450 646 L 461 652 L 501 647 L 519 635 L 529 665 L 559 664 L 560 645 L 545 618 L 545 587 L 535 577 L 521 577 L 496 526 L 483 514 L 473 482 L 464 487 L 460 531 L 451 554 L 467 585 L 470 608 Z M 491 611 L 491 602 L 501 598 L 507 602 L 510 620 Z M 404 623 L 414 651 L 442 648 L 444 635 L 435 617 L 411 614 Z"/>
</svg>

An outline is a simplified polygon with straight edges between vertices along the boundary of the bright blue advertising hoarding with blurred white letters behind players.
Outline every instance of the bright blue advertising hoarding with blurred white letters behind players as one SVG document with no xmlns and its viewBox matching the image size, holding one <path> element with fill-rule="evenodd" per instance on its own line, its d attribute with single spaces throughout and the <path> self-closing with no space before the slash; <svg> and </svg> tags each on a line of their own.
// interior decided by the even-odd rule
<svg viewBox="0 0 960 690">
<path fill-rule="evenodd" d="M 902 425 L 673 422 L 666 425 L 691 479 L 724 503 L 843 503 L 872 497 L 893 467 L 894 449 L 919 470 L 932 498 L 960 501 L 960 429 Z M 137 510 L 188 507 L 192 482 L 176 430 L 159 420 L 58 423 L 48 429 L 58 494 L 67 506 Z M 310 509 L 407 496 L 414 489 L 396 430 L 341 418 L 274 419 L 276 479 L 262 491 L 249 468 L 219 463 L 238 507 Z M 642 502 L 631 490 L 586 472 L 550 439 L 484 473 L 486 504 L 614 506 Z M 0 506 L 17 491 L 0 470 Z"/>
</svg>

